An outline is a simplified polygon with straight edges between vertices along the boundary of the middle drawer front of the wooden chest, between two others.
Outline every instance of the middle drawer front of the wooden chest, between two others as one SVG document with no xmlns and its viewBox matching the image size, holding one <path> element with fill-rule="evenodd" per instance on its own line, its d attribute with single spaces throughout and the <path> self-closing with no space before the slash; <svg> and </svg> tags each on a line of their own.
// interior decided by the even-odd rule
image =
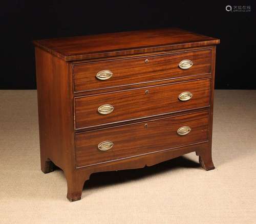
<svg viewBox="0 0 256 224">
<path fill-rule="evenodd" d="M 193 96 L 190 98 L 187 92 Z M 179 96 L 183 94 L 183 98 Z M 210 79 L 76 97 L 75 128 L 104 125 L 209 106 Z M 185 100 L 185 101 L 182 101 Z"/>
</svg>

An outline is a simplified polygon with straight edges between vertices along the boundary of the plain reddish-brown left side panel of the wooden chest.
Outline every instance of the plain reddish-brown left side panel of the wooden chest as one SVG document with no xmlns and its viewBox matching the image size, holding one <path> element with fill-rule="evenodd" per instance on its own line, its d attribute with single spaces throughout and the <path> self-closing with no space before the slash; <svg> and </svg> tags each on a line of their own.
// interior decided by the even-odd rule
<svg viewBox="0 0 256 224">
<path fill-rule="evenodd" d="M 41 169 L 50 172 L 54 161 L 65 170 L 74 147 L 71 66 L 39 48 L 35 53 Z"/>
</svg>

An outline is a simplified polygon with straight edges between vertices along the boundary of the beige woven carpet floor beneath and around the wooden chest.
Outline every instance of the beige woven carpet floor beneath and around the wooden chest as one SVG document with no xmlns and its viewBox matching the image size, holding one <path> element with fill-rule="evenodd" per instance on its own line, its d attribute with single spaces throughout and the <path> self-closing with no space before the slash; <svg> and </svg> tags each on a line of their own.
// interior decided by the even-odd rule
<svg viewBox="0 0 256 224">
<path fill-rule="evenodd" d="M 36 91 L 0 91 L 0 223 L 256 223 L 256 91 L 216 91 L 213 159 L 97 173 L 70 203 L 40 171 Z"/>
</svg>

